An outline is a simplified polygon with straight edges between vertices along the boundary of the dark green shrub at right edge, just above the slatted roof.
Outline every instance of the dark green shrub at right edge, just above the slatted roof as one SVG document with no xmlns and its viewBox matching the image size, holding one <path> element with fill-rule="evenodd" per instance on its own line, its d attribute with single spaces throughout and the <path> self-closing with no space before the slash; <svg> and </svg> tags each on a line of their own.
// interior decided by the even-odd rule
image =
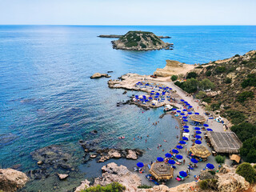
<svg viewBox="0 0 256 192">
<path fill-rule="evenodd" d="M 231 130 L 237 134 L 242 142 L 248 138 L 256 137 L 256 126 L 249 122 L 242 122 L 237 126 L 232 126 Z"/>
</svg>

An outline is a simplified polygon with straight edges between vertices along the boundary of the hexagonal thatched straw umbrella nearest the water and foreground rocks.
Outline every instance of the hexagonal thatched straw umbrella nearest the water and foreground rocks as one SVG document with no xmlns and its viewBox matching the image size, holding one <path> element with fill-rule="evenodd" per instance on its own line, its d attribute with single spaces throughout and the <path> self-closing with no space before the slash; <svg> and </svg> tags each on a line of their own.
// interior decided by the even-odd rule
<svg viewBox="0 0 256 192">
<path fill-rule="evenodd" d="M 168 180 L 174 177 L 174 169 L 165 162 L 154 162 L 150 168 L 150 174 L 158 180 Z"/>
</svg>

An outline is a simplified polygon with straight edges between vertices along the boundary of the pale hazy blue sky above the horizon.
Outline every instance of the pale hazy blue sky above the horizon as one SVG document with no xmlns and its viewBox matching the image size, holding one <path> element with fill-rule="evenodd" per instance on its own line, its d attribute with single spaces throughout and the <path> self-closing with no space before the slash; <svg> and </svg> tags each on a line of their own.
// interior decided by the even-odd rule
<svg viewBox="0 0 256 192">
<path fill-rule="evenodd" d="M 0 25 L 256 25 L 256 0 L 0 0 Z"/>
</svg>

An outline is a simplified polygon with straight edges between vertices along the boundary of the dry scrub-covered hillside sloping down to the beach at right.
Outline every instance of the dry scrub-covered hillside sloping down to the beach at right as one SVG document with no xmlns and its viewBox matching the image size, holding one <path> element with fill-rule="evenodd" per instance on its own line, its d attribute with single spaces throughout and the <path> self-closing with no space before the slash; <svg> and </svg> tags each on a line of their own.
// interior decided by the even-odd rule
<svg viewBox="0 0 256 192">
<path fill-rule="evenodd" d="M 256 51 L 202 65 L 198 80 L 210 79 L 221 94 L 204 97 L 211 110 L 220 111 L 233 124 L 256 122 Z M 199 67 L 199 68 L 200 68 Z"/>
</svg>

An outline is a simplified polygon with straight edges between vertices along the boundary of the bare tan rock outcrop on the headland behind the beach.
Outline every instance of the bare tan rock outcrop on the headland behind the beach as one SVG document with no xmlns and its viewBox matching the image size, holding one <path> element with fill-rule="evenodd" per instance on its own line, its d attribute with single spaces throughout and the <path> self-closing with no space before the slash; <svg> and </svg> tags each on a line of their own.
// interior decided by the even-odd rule
<svg viewBox="0 0 256 192">
<path fill-rule="evenodd" d="M 178 74 L 186 74 L 190 70 L 194 70 L 193 65 L 172 61 L 172 60 L 166 60 L 166 66 L 163 69 L 158 68 L 154 75 L 159 77 L 168 77 L 172 75 L 178 75 Z"/>
</svg>

